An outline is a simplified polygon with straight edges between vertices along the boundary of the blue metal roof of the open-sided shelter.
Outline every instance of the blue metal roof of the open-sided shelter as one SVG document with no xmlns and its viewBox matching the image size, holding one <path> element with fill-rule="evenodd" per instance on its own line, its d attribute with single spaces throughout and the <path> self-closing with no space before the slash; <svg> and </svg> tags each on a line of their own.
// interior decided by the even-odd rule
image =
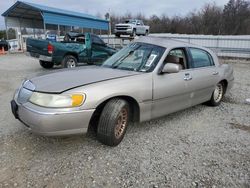
<svg viewBox="0 0 250 188">
<path fill-rule="evenodd" d="M 17 1 L 13 6 L 6 10 L 2 16 L 39 21 L 43 20 L 46 24 L 108 30 L 107 20 L 89 14 L 24 1 Z"/>
</svg>

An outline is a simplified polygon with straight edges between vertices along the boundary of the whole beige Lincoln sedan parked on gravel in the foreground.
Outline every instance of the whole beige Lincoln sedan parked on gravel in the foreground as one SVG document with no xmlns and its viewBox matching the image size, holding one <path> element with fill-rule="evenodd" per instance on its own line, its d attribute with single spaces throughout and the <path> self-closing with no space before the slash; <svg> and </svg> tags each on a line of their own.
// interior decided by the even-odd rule
<svg viewBox="0 0 250 188">
<path fill-rule="evenodd" d="M 11 107 L 15 118 L 34 133 L 78 134 L 93 126 L 100 142 L 116 146 L 129 122 L 205 102 L 219 105 L 233 80 L 233 69 L 220 64 L 209 49 L 142 37 L 101 66 L 64 69 L 24 81 Z"/>
</svg>

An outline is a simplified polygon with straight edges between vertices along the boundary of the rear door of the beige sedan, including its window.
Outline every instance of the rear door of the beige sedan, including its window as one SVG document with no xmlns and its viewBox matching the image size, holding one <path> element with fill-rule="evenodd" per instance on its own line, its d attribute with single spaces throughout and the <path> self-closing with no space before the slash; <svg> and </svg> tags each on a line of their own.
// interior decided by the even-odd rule
<svg viewBox="0 0 250 188">
<path fill-rule="evenodd" d="M 188 92 L 192 106 L 208 101 L 219 82 L 219 72 L 209 52 L 199 48 L 189 48 Z"/>
</svg>

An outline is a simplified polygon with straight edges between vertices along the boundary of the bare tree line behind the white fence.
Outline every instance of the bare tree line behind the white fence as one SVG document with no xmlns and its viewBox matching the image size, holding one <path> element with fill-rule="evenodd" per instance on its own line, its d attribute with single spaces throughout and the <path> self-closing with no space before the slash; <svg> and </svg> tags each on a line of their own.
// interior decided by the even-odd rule
<svg viewBox="0 0 250 188">
<path fill-rule="evenodd" d="M 180 33 L 204 35 L 249 35 L 250 1 L 229 0 L 224 6 L 215 3 L 205 4 L 201 10 L 192 11 L 186 16 L 168 17 L 143 14 L 123 16 L 111 15 L 111 28 L 129 18 L 137 18 L 150 26 L 151 33 Z"/>
</svg>

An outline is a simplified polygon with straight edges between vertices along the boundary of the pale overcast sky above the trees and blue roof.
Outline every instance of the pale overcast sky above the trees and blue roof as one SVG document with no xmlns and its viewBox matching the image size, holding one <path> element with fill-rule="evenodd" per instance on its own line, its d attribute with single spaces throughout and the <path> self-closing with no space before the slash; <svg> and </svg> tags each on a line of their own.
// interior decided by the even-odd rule
<svg viewBox="0 0 250 188">
<path fill-rule="evenodd" d="M 97 15 L 106 12 L 115 14 L 143 13 L 145 16 L 152 14 L 168 16 L 183 16 L 192 10 L 199 10 L 204 4 L 215 0 L 25 0 L 36 4 L 57 7 Z M 219 6 L 225 5 L 229 0 L 217 0 Z M 0 0 L 0 13 L 2 14 L 14 4 L 15 0 Z M 0 29 L 4 28 L 4 19 L 0 16 Z"/>
</svg>

